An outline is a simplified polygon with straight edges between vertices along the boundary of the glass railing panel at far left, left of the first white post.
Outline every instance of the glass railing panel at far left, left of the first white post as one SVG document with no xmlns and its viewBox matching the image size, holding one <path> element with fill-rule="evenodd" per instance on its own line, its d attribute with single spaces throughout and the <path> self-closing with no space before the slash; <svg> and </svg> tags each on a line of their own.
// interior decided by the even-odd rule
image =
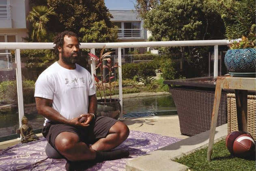
<svg viewBox="0 0 256 171">
<path fill-rule="evenodd" d="M 0 141 L 19 137 L 16 134 L 19 129 L 16 71 L 11 66 L 15 58 L 9 54 L 8 58 L 0 68 Z"/>
</svg>

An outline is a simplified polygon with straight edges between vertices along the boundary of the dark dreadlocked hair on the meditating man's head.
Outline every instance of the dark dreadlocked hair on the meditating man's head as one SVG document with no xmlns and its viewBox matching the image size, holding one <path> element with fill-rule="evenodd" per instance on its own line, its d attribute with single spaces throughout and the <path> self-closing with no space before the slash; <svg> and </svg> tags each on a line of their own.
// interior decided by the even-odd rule
<svg viewBox="0 0 256 171">
<path fill-rule="evenodd" d="M 64 36 L 75 36 L 76 37 L 76 34 L 74 32 L 71 32 L 71 31 L 64 31 L 64 32 L 61 32 L 61 33 L 58 33 L 57 36 L 54 37 L 54 40 L 53 40 L 53 43 L 55 44 L 55 47 L 54 47 L 54 52 L 56 53 L 56 55 L 58 56 L 59 54 L 59 51 L 58 51 L 58 47 L 61 47 L 63 49 L 63 45 L 64 45 Z M 78 40 L 78 39 L 77 39 Z M 80 43 L 79 43 L 80 45 Z"/>
</svg>

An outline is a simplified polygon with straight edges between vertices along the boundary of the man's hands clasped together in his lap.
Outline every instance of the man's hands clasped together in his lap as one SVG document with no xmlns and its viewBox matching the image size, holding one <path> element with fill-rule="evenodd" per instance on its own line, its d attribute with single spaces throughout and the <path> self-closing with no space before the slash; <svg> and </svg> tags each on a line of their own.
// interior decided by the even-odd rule
<svg viewBox="0 0 256 171">
<path fill-rule="evenodd" d="M 75 127 L 88 127 L 90 126 L 90 122 L 94 120 L 94 115 L 87 113 L 87 114 L 82 114 L 78 118 L 73 118 L 70 120 L 70 125 L 75 126 Z"/>
</svg>

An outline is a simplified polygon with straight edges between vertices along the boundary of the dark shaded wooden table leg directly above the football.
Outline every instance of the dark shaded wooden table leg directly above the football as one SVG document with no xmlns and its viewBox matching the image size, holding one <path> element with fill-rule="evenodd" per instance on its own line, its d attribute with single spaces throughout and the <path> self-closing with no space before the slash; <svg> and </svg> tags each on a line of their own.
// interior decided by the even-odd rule
<svg viewBox="0 0 256 171">
<path fill-rule="evenodd" d="M 247 90 L 234 90 L 237 104 L 238 130 L 247 131 Z"/>
</svg>

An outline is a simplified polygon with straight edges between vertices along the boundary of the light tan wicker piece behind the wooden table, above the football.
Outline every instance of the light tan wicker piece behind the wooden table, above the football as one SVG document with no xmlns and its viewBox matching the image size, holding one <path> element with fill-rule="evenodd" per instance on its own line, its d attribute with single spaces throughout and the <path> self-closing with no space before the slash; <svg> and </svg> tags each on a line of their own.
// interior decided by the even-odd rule
<svg viewBox="0 0 256 171">
<path fill-rule="evenodd" d="M 238 130 L 237 124 L 237 106 L 234 93 L 227 94 L 228 99 L 228 133 Z M 256 134 L 256 96 L 247 96 L 247 132 L 255 140 Z"/>
</svg>

